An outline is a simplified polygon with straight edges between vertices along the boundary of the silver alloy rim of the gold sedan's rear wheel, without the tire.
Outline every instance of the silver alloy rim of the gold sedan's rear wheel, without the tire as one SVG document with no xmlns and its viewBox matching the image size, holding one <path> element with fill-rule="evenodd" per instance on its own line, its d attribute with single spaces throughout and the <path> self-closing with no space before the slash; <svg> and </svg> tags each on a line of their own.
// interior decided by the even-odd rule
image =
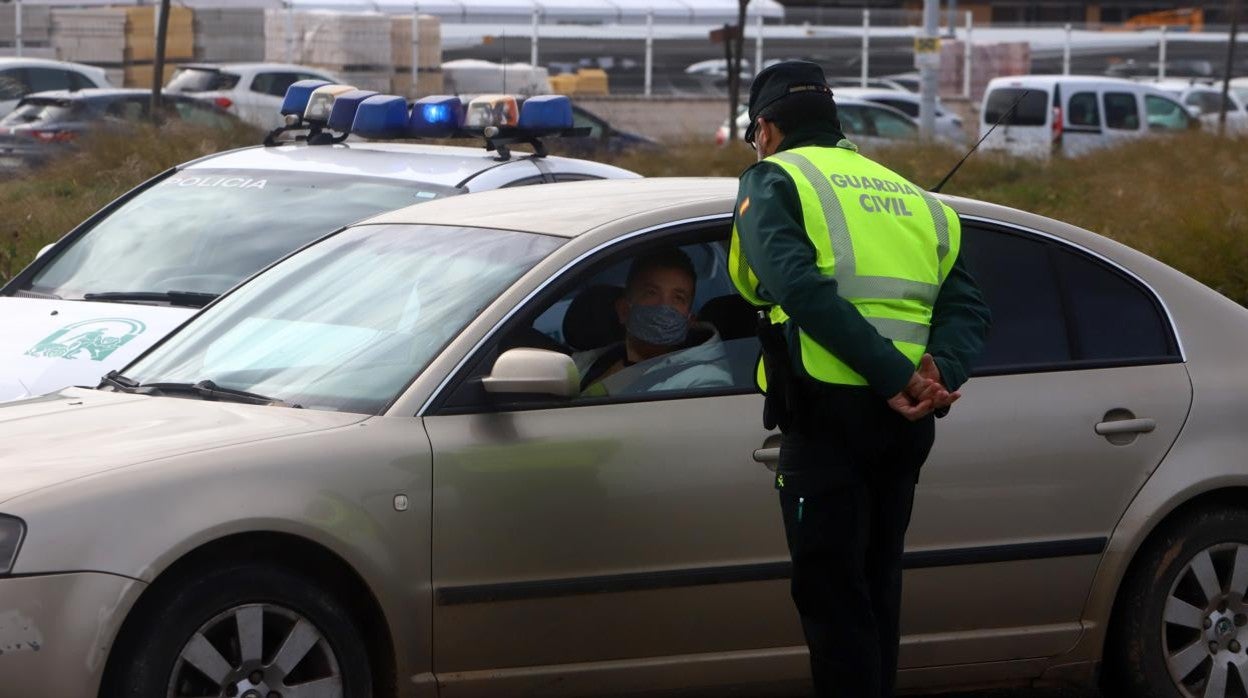
<svg viewBox="0 0 1248 698">
<path fill-rule="evenodd" d="M 1193 698 L 1244 696 L 1248 687 L 1248 546 L 1198 552 L 1166 598 L 1162 647 L 1176 686 Z M 1238 686 L 1231 674 L 1238 674 Z"/>
</svg>

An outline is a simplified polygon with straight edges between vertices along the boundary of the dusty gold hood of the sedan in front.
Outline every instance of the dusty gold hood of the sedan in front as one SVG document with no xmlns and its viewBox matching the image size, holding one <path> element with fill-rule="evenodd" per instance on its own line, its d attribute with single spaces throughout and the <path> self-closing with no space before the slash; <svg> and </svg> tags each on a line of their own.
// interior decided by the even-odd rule
<svg viewBox="0 0 1248 698">
<path fill-rule="evenodd" d="M 0 503 L 115 468 L 336 428 L 363 415 L 66 388 L 0 405 Z"/>
</svg>

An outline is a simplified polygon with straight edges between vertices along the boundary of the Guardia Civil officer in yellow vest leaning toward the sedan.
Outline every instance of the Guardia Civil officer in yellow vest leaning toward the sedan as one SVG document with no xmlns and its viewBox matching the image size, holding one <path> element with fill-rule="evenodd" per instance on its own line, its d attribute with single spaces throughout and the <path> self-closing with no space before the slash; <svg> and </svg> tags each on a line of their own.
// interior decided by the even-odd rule
<svg viewBox="0 0 1248 698">
<path fill-rule="evenodd" d="M 901 552 L 934 412 L 960 396 L 988 326 L 957 215 L 860 155 L 822 70 L 750 89 L 729 266 L 764 308 L 764 421 L 819 696 L 892 696 Z"/>
</svg>

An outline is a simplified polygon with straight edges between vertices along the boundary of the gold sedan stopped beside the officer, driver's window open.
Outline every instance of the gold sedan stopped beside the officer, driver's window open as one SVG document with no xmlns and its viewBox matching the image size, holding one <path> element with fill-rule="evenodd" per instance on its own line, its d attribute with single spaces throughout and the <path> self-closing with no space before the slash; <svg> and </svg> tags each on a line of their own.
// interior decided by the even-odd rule
<svg viewBox="0 0 1248 698">
<path fill-rule="evenodd" d="M 387 214 L 99 388 L 0 407 L 0 694 L 800 689 L 735 191 Z M 943 200 L 995 326 L 919 482 L 902 687 L 1103 664 L 1129 696 L 1244 696 L 1248 311 L 1085 230 Z M 587 388 L 633 260 L 673 247 L 696 342 Z"/>
</svg>

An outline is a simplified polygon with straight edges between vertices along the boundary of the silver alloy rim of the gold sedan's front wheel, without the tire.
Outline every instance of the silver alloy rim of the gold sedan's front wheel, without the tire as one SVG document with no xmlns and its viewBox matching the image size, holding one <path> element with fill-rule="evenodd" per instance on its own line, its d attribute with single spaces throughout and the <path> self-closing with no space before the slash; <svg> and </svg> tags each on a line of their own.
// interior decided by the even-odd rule
<svg viewBox="0 0 1248 698">
<path fill-rule="evenodd" d="M 307 618 L 272 603 L 230 608 L 178 653 L 168 698 L 342 698 L 342 672 Z"/>
</svg>

